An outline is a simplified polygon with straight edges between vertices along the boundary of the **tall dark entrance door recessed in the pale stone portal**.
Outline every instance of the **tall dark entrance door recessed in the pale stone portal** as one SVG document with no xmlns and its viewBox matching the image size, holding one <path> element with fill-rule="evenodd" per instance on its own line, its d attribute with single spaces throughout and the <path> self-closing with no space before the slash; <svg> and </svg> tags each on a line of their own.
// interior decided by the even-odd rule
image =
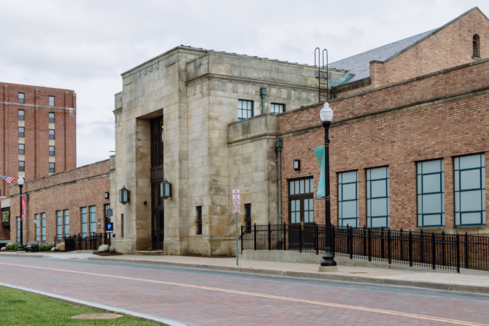
<svg viewBox="0 0 489 326">
<path fill-rule="evenodd" d="M 163 249 L 165 237 L 164 200 L 159 184 L 163 181 L 163 117 L 151 120 L 151 239 L 152 249 Z"/>
</svg>

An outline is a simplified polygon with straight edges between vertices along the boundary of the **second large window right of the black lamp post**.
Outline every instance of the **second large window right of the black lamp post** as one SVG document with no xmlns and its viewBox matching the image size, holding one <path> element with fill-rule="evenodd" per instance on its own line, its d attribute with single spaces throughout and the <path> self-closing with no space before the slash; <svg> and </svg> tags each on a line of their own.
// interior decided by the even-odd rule
<svg viewBox="0 0 489 326">
<path fill-rule="evenodd" d="M 389 168 L 367 169 L 367 227 L 389 227 Z"/>
</svg>

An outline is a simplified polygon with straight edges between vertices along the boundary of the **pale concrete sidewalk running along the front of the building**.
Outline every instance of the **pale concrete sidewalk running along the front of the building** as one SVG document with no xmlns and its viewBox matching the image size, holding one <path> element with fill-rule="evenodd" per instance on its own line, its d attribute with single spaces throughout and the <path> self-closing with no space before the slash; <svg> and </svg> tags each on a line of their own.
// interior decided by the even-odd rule
<svg viewBox="0 0 489 326">
<path fill-rule="evenodd" d="M 0 257 L 46 257 L 64 259 L 87 259 L 99 262 L 124 262 L 131 264 L 154 264 L 171 267 L 186 267 L 210 269 L 217 271 L 234 271 L 250 274 L 271 276 L 287 276 L 299 278 L 315 278 L 330 281 L 347 281 L 370 284 L 408 286 L 435 290 L 460 291 L 489 294 L 489 272 L 479 271 L 481 275 L 458 273 L 440 273 L 426 269 L 423 271 L 407 271 L 399 269 L 380 269 L 371 267 L 338 266 L 334 273 L 320 273 L 319 264 L 298 264 L 291 262 L 264 262 L 256 260 L 189 257 L 189 256 L 147 256 L 119 255 L 100 257 L 90 254 L 73 253 L 31 253 L 17 255 L 16 253 L 0 253 Z"/>
</svg>

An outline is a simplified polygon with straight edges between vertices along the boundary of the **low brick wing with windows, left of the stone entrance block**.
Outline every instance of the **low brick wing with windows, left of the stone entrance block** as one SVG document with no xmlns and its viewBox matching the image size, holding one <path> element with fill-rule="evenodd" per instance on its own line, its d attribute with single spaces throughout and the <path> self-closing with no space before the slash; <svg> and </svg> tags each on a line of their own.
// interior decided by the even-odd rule
<svg viewBox="0 0 489 326">
<path fill-rule="evenodd" d="M 24 243 L 53 243 L 54 237 L 103 233 L 105 210 L 110 207 L 110 198 L 105 199 L 105 192 L 110 192 L 109 168 L 110 162 L 105 160 L 24 183 Z M 20 237 L 19 200 L 18 193 L 10 193 L 11 243 Z M 39 222 L 35 224 L 34 220 Z"/>
</svg>

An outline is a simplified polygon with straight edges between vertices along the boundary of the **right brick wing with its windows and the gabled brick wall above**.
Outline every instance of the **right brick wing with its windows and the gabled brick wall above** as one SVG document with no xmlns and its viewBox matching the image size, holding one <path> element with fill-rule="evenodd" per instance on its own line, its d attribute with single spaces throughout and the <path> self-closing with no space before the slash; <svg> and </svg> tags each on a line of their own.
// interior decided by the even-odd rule
<svg viewBox="0 0 489 326">
<path fill-rule="evenodd" d="M 407 48 L 397 47 L 391 59 L 371 60 L 370 75 L 361 83 L 351 78 L 353 86 L 333 87 L 330 192 L 335 225 L 489 233 L 488 45 L 489 20 L 474 8 Z M 371 53 L 379 55 L 379 49 Z M 277 117 L 285 222 L 312 222 L 305 200 L 314 199 L 318 187 L 314 148 L 324 143 L 322 107 Z M 300 160 L 300 171 L 294 171 L 294 160 Z M 309 179 L 314 191 L 294 192 L 296 181 L 302 187 Z M 314 222 L 323 223 L 324 201 L 312 202 Z"/>
</svg>

